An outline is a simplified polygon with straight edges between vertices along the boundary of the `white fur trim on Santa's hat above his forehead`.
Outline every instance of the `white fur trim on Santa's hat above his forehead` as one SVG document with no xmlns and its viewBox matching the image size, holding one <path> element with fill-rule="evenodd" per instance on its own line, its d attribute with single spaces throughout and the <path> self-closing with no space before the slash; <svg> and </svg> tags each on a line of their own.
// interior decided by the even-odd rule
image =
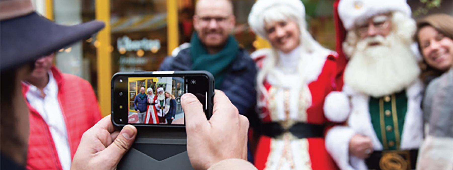
<svg viewBox="0 0 453 170">
<path fill-rule="evenodd" d="M 338 4 L 338 15 L 347 30 L 352 29 L 357 21 L 392 11 L 411 15 L 406 0 L 340 0 Z"/>
</svg>

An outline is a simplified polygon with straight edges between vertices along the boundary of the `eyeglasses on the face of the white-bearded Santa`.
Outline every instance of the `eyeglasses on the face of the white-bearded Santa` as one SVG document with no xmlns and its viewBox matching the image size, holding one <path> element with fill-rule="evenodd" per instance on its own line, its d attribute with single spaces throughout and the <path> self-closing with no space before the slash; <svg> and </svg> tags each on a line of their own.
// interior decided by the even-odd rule
<svg viewBox="0 0 453 170">
<path fill-rule="evenodd" d="M 391 22 L 390 14 L 377 15 L 370 19 L 365 19 L 356 24 L 356 33 L 360 36 L 366 35 L 373 29 L 376 33 L 381 33 L 387 29 Z"/>
</svg>

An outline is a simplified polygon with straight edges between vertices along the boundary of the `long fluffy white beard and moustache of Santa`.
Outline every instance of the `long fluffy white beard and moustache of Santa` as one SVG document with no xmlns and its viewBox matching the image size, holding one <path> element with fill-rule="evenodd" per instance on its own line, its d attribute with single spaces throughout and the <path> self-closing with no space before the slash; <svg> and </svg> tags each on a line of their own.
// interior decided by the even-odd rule
<svg viewBox="0 0 453 170">
<path fill-rule="evenodd" d="M 369 42 L 381 45 L 368 46 Z M 408 87 L 418 78 L 420 69 L 410 44 L 404 42 L 408 41 L 395 34 L 358 42 L 345 69 L 345 84 L 373 97 Z"/>
</svg>

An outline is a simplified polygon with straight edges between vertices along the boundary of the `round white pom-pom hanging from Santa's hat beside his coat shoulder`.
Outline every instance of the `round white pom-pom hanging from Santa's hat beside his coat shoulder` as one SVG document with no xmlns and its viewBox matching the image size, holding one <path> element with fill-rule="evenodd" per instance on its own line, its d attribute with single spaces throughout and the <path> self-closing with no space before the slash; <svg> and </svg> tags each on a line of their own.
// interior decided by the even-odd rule
<svg viewBox="0 0 453 170">
<path fill-rule="evenodd" d="M 324 102 L 324 115 L 329 121 L 346 121 L 351 112 L 349 98 L 342 92 L 330 92 Z"/>
</svg>

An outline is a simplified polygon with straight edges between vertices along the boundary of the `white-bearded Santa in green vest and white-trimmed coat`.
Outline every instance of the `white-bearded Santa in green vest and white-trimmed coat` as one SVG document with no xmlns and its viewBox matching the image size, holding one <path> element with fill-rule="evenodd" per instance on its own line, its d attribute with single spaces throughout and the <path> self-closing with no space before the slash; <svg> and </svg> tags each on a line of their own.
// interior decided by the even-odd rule
<svg viewBox="0 0 453 170">
<path fill-rule="evenodd" d="M 326 97 L 324 111 L 330 121 L 347 123 L 328 131 L 326 148 L 342 170 L 414 169 L 423 140 L 423 86 L 411 50 L 410 7 L 405 0 L 335 6 L 337 52 L 349 62 L 342 92 Z"/>
</svg>

